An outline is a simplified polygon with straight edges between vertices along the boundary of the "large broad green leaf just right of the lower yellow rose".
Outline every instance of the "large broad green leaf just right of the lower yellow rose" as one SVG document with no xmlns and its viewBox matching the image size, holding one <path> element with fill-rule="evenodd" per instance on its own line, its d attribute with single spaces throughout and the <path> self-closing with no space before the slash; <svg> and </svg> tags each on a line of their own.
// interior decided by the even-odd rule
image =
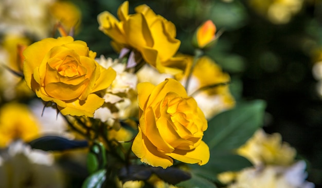
<svg viewBox="0 0 322 188">
<path fill-rule="evenodd" d="M 262 126 L 265 106 L 255 100 L 222 112 L 208 122 L 203 140 L 217 153 L 240 147 Z"/>
</svg>

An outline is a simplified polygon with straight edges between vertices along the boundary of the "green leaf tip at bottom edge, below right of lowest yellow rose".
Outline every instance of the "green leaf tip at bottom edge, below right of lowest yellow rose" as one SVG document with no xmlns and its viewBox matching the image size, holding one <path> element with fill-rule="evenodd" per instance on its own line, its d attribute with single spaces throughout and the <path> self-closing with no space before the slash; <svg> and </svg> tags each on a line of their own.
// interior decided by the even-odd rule
<svg viewBox="0 0 322 188">
<path fill-rule="evenodd" d="M 185 188 L 217 188 L 217 186 L 215 184 L 213 184 L 211 181 L 200 177 L 196 174 L 192 173 L 192 177 L 191 179 L 187 180 L 187 181 L 183 181 L 180 182 L 178 184 L 176 184 L 175 186 L 178 187 L 185 187 Z"/>
</svg>

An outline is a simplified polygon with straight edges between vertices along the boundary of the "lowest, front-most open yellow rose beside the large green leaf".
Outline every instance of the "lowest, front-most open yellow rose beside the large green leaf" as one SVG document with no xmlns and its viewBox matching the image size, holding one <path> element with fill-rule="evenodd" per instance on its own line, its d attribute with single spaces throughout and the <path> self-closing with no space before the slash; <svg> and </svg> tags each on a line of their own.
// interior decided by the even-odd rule
<svg viewBox="0 0 322 188">
<path fill-rule="evenodd" d="M 209 147 L 202 141 L 207 120 L 195 100 L 174 79 L 154 86 L 137 85 L 139 132 L 132 145 L 142 162 L 166 168 L 173 159 L 206 164 Z"/>
</svg>

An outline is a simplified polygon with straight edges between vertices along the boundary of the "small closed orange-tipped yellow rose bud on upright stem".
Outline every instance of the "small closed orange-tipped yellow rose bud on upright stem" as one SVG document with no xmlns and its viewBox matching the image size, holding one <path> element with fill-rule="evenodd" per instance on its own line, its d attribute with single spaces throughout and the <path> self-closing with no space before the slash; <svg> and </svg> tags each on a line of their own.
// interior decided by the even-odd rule
<svg viewBox="0 0 322 188">
<path fill-rule="evenodd" d="M 193 36 L 192 44 L 196 48 L 209 48 L 214 44 L 214 42 L 217 39 L 215 33 L 216 26 L 213 24 L 211 20 L 208 20 L 201 26 L 199 26 L 199 28 L 196 30 Z"/>
</svg>

